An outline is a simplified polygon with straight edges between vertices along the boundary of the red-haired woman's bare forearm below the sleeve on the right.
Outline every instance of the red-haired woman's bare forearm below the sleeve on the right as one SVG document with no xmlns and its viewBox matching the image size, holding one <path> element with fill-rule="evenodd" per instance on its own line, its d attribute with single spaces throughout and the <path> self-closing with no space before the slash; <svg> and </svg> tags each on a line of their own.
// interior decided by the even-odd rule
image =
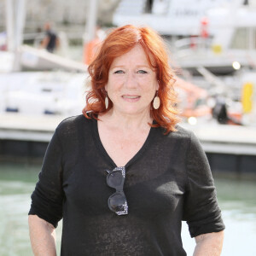
<svg viewBox="0 0 256 256">
<path fill-rule="evenodd" d="M 195 236 L 193 256 L 219 256 L 222 250 L 224 231 Z"/>
</svg>

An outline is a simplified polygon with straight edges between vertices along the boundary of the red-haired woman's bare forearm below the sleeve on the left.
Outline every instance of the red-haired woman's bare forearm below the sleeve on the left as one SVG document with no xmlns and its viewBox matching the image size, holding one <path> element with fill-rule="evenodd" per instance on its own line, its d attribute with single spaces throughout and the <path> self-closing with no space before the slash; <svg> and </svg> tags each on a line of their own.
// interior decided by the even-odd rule
<svg viewBox="0 0 256 256">
<path fill-rule="evenodd" d="M 55 227 L 37 215 L 28 216 L 32 251 L 35 256 L 55 256 Z"/>
</svg>

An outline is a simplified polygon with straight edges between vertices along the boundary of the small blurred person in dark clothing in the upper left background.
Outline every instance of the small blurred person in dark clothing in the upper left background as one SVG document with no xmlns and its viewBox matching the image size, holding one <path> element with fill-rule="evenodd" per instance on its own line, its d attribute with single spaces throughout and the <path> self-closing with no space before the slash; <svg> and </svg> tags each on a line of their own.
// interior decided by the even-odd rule
<svg viewBox="0 0 256 256">
<path fill-rule="evenodd" d="M 45 37 L 41 42 L 41 48 L 46 49 L 50 53 L 53 53 L 59 46 L 59 38 L 56 33 L 52 31 L 49 22 L 44 24 Z"/>
</svg>

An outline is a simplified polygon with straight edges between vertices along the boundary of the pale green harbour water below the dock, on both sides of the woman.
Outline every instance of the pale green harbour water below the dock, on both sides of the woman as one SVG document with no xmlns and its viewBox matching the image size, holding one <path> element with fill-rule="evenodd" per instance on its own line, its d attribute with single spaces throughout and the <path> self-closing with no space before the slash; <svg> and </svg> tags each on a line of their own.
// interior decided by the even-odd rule
<svg viewBox="0 0 256 256">
<path fill-rule="evenodd" d="M 0 255 L 31 256 L 27 227 L 30 195 L 40 166 L 0 163 Z M 256 183 L 215 177 L 226 225 L 224 256 L 256 255 Z M 194 239 L 183 224 L 183 245 L 192 255 Z M 57 229 L 60 251 L 61 226 Z"/>
</svg>

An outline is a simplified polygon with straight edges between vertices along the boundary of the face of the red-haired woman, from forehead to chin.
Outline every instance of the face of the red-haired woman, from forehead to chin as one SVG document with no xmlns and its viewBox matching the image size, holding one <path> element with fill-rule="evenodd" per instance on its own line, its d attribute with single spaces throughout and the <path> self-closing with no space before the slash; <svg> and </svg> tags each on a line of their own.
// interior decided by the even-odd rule
<svg viewBox="0 0 256 256">
<path fill-rule="evenodd" d="M 150 110 L 159 84 L 140 44 L 113 60 L 105 89 L 113 102 L 113 110 L 123 114 Z"/>
</svg>

